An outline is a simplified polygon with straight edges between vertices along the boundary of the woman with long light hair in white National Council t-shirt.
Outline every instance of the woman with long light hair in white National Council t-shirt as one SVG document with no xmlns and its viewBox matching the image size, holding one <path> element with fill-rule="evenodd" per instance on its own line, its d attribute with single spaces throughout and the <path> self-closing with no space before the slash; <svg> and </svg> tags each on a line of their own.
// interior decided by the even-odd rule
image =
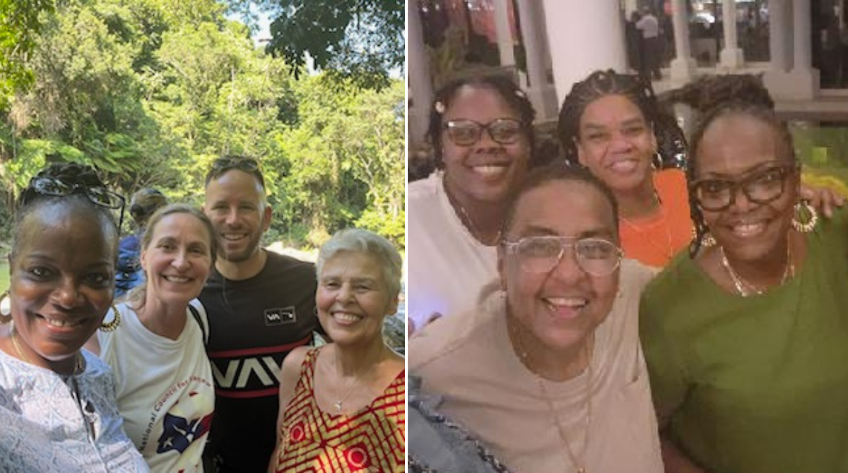
<svg viewBox="0 0 848 473">
<path fill-rule="evenodd" d="M 141 248 L 145 282 L 116 306 L 113 331 L 98 332 L 99 355 L 150 469 L 203 471 L 215 387 L 196 298 L 215 264 L 215 231 L 199 209 L 170 204 L 150 217 Z"/>
</svg>

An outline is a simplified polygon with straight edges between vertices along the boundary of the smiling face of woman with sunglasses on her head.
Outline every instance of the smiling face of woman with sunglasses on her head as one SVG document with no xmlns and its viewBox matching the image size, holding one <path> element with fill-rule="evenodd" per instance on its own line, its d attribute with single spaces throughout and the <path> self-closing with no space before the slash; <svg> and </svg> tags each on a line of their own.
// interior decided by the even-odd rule
<svg viewBox="0 0 848 473">
<path fill-rule="evenodd" d="M 117 237 L 114 224 L 78 198 L 44 203 L 20 221 L 9 295 L 14 330 L 33 363 L 73 370 L 112 303 Z"/>
</svg>

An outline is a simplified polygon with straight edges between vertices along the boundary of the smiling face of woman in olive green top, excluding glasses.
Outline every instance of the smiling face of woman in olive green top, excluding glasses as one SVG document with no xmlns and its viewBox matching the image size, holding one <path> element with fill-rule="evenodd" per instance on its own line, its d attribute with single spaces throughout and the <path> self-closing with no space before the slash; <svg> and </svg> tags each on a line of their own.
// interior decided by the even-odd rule
<svg viewBox="0 0 848 473">
<path fill-rule="evenodd" d="M 707 126 L 693 157 L 695 179 L 739 181 L 774 165 L 791 164 L 792 155 L 771 125 L 750 114 L 731 113 Z M 786 258 L 786 236 L 798 200 L 800 173 L 786 177 L 784 193 L 769 203 L 753 203 L 737 191 L 728 209 L 701 209 L 712 236 L 731 263 L 758 264 Z"/>
</svg>

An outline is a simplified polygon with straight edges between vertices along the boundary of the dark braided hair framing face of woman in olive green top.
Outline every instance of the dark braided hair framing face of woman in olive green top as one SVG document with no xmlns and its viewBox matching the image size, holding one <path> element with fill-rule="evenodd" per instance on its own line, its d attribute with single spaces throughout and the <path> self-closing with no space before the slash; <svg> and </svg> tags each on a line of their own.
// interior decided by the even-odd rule
<svg viewBox="0 0 848 473">
<path fill-rule="evenodd" d="M 698 157 L 701 153 L 701 146 L 704 140 L 704 134 L 707 129 L 715 121 L 728 116 L 746 116 L 754 120 L 760 121 L 774 132 L 774 136 L 778 139 L 778 143 L 783 149 L 784 155 L 781 159 L 786 159 L 791 164 L 797 164 L 798 160 L 795 156 L 795 147 L 792 143 L 792 135 L 789 133 L 789 128 L 786 124 L 779 120 L 774 114 L 772 108 L 767 103 L 750 102 L 748 100 L 731 100 L 728 102 L 717 103 L 704 117 L 700 120 L 695 132 L 692 134 L 692 147 L 689 155 L 689 167 L 686 169 L 686 181 L 689 185 L 689 213 L 692 217 L 692 223 L 695 224 L 695 238 L 689 243 L 689 256 L 695 258 L 698 250 L 701 247 L 701 240 L 706 236 L 709 229 L 704 223 L 704 214 L 700 211 L 698 198 L 695 196 L 695 181 L 698 173 Z"/>
</svg>

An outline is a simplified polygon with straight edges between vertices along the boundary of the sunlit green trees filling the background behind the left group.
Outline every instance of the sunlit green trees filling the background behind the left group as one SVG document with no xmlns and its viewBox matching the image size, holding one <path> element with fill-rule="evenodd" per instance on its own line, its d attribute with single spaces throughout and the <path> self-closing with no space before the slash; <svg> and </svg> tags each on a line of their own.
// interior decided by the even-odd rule
<svg viewBox="0 0 848 473">
<path fill-rule="evenodd" d="M 157 186 L 200 203 L 209 163 L 237 153 L 267 175 L 269 241 L 316 246 L 359 225 L 403 246 L 401 81 L 376 90 L 341 75 L 295 78 L 213 0 L 37 11 L 31 52 L 15 63 L 31 75 L 0 76 L 0 224 L 49 160 L 94 164 L 126 195 Z"/>
</svg>

